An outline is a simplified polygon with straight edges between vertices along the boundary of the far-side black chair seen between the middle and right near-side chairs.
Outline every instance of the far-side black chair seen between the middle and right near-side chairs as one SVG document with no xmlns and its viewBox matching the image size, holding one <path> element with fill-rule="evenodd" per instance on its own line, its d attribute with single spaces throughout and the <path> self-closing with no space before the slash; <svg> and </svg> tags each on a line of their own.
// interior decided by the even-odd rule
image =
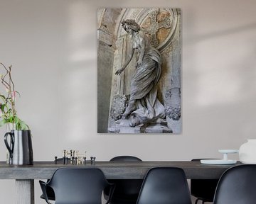
<svg viewBox="0 0 256 204">
<path fill-rule="evenodd" d="M 192 159 L 192 162 L 200 162 L 201 159 Z M 213 202 L 214 193 L 218 179 L 191 179 L 191 196 L 196 197 L 195 204 L 201 200 L 205 202 Z"/>
</svg>

